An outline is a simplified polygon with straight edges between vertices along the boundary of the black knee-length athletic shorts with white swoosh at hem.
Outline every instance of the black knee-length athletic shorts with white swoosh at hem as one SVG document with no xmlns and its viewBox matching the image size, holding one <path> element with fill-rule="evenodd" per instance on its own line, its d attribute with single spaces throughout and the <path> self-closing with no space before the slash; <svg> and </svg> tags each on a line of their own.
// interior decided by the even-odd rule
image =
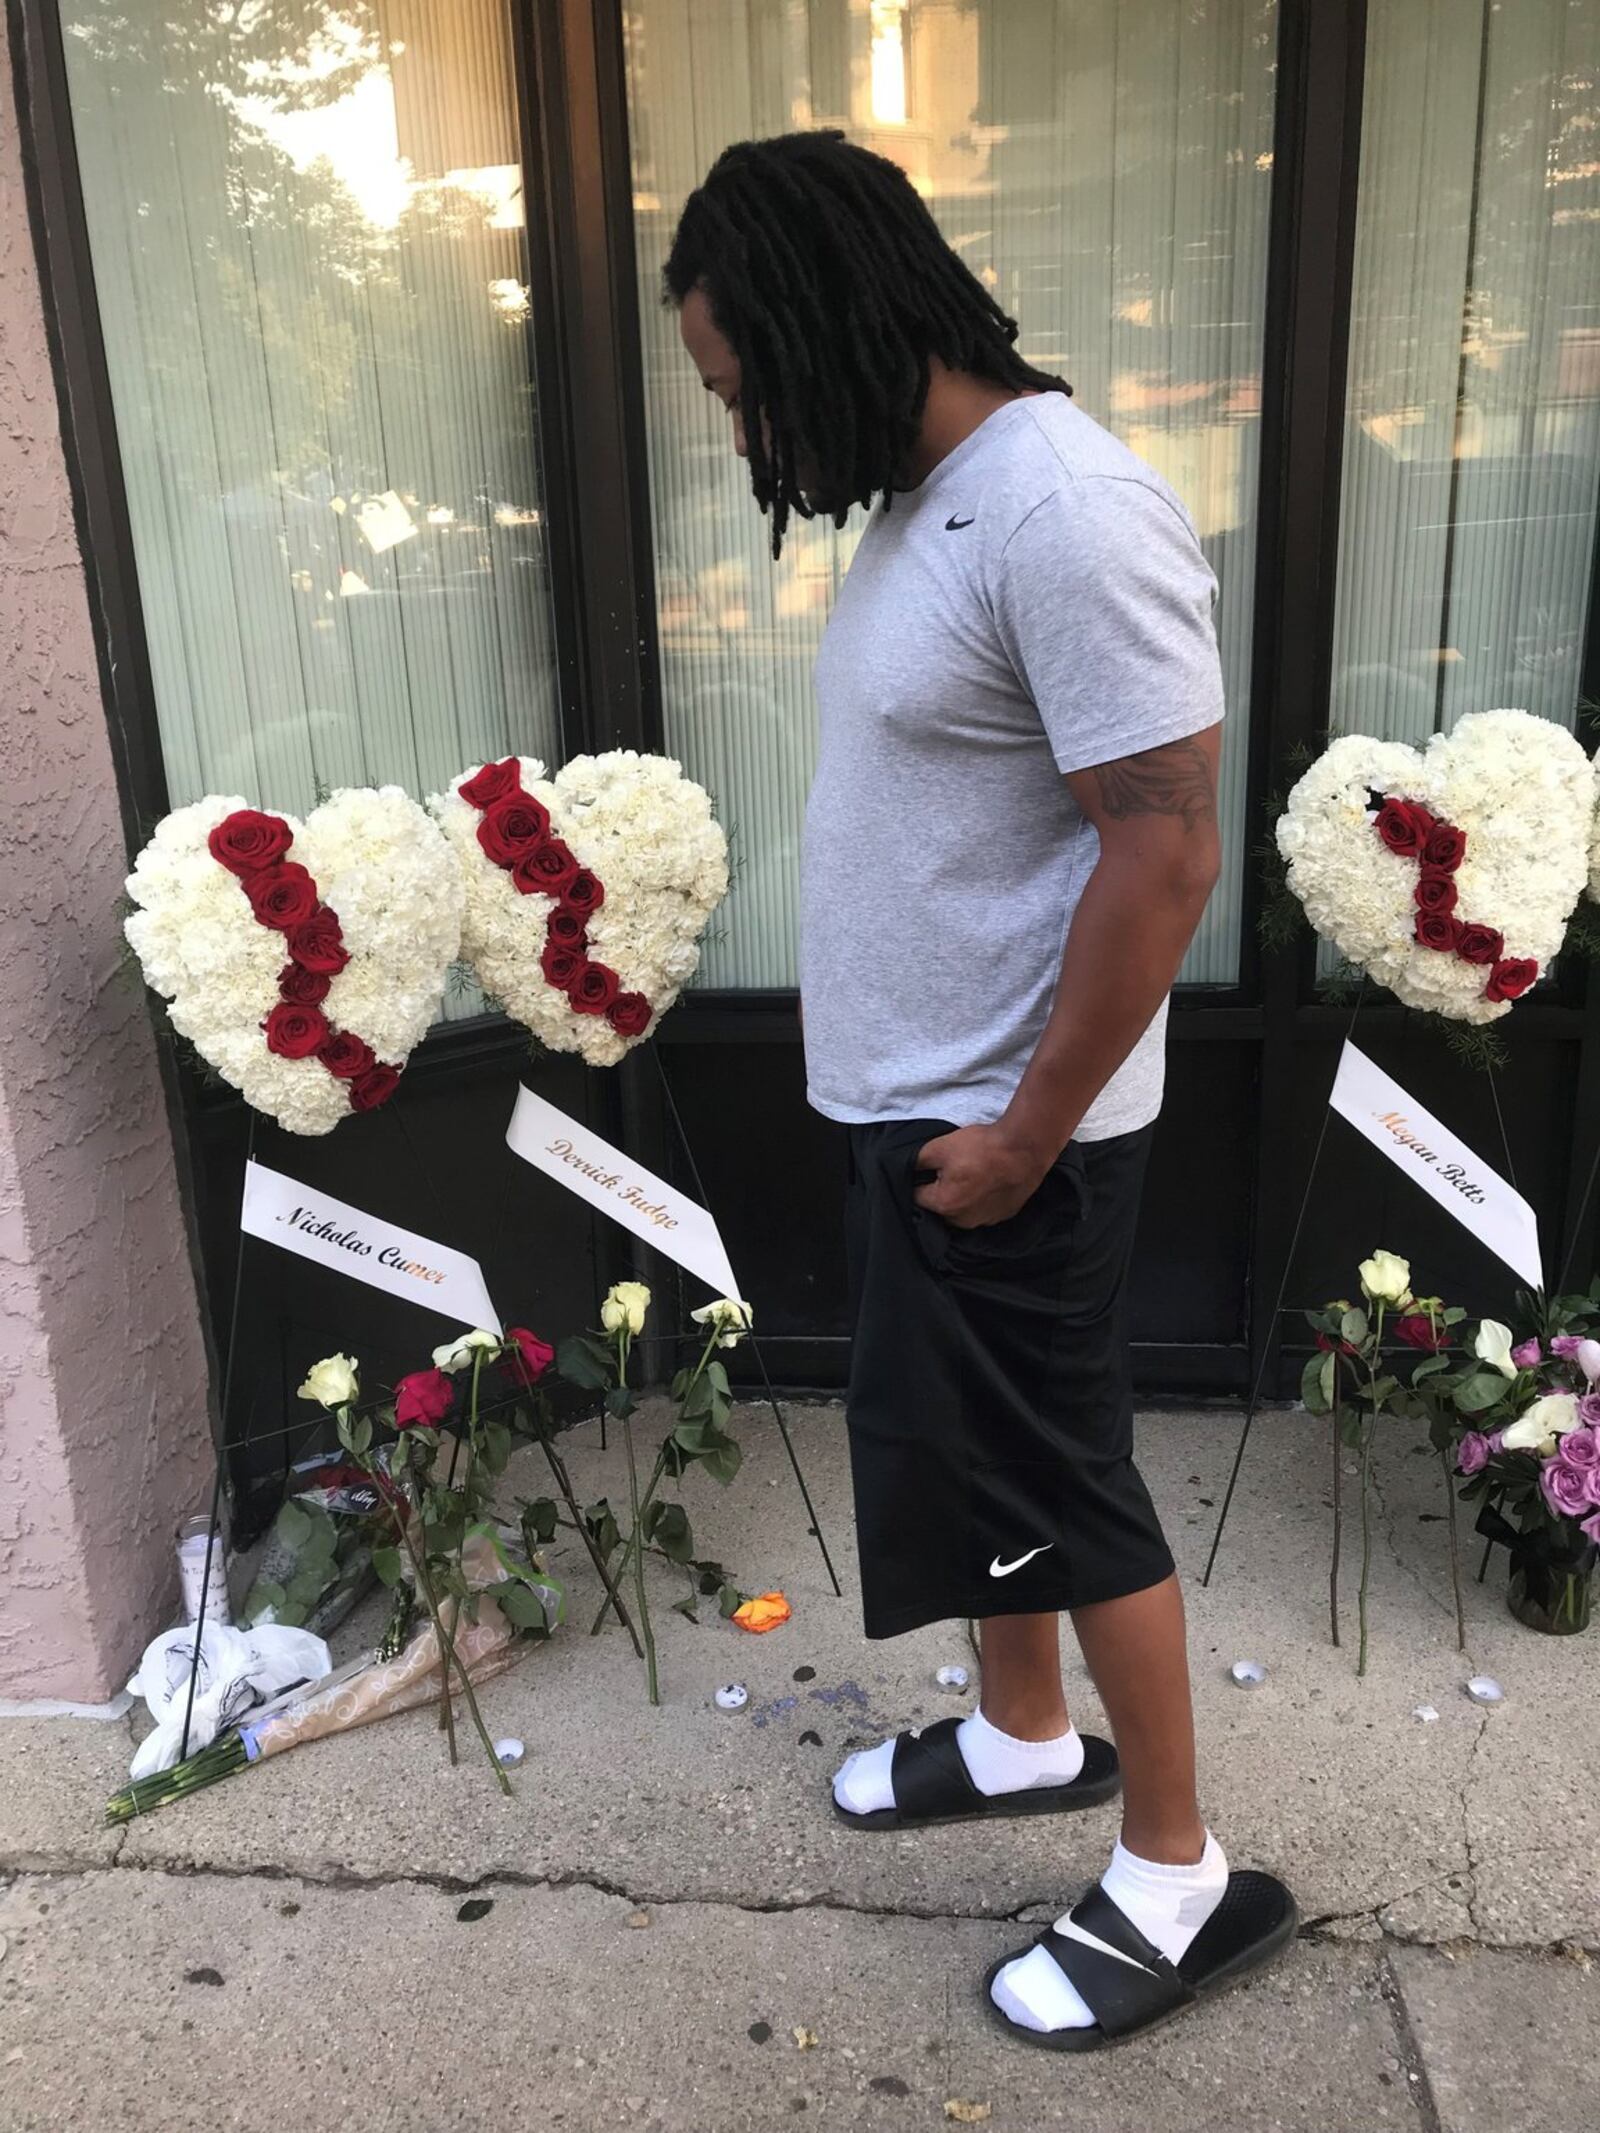
<svg viewBox="0 0 1600 2133">
<path fill-rule="evenodd" d="M 988 1229 L 915 1205 L 937 1118 L 849 1126 L 849 1453 L 868 1636 L 1171 1574 L 1133 1465 L 1124 1293 L 1154 1128 L 1073 1141 Z"/>
</svg>

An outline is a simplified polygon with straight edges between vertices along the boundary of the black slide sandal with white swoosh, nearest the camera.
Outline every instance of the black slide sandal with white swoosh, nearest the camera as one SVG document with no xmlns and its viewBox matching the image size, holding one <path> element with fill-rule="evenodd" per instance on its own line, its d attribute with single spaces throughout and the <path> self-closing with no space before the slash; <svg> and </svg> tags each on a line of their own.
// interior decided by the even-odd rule
<svg viewBox="0 0 1600 2133">
<path fill-rule="evenodd" d="M 1222 1901 L 1175 1964 L 1146 1941 L 1099 1883 L 1073 1905 L 1071 1915 L 1107 1947 L 1120 1947 L 1133 1958 L 1122 1962 L 1118 1956 L 1101 1954 L 1084 1941 L 1067 1939 L 1054 1926 L 1039 1935 L 1035 1945 L 1050 1950 L 1084 2005 L 1099 2016 L 1092 2028 L 1022 2028 L 1001 2014 L 990 1988 L 1018 1956 L 1001 1956 L 983 1977 L 983 2005 L 1001 2028 L 1020 2043 L 1037 2043 L 1045 2052 L 1101 2052 L 1107 2043 L 1126 2043 L 1129 2037 L 1169 2022 L 1186 2007 L 1244 1984 L 1282 1954 L 1299 1928 L 1295 1898 L 1269 1873 L 1231 1873 Z"/>
</svg>

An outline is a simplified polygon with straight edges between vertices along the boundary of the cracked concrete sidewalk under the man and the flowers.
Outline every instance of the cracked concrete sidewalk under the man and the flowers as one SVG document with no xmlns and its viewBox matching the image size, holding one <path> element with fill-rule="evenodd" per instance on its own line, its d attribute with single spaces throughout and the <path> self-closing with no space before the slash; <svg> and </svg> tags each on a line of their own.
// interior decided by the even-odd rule
<svg viewBox="0 0 1600 2133">
<path fill-rule="evenodd" d="M 1257 1425 L 1201 1591 L 1237 1416 L 1141 1423 L 1190 1591 L 1205 1809 L 1235 1866 L 1291 1881 L 1306 1928 L 1216 2007 L 1067 2060 L 992 2028 L 979 1979 L 1101 1871 L 1114 1813 L 907 1837 L 832 1817 L 841 1755 L 964 1709 L 932 1674 L 969 1653 L 958 1625 L 860 1638 L 841 1418 L 796 1410 L 794 1429 L 845 1600 L 777 1431 L 740 1414 L 734 1489 L 689 1482 L 695 1544 L 747 1591 L 781 1585 L 794 1621 L 751 1638 L 704 1604 L 687 1623 L 661 1568 L 653 1711 L 625 1638 L 587 1636 L 595 1581 L 565 1540 L 572 1625 L 484 1698 L 491 1730 L 527 1743 L 512 1800 L 469 1758 L 450 1770 L 418 1715 L 107 1832 L 130 1730 L 0 1721 L 0 2129 L 1555 2133 L 1600 2118 L 1585 1954 L 1600 1952 L 1600 1630 L 1521 1630 L 1498 1559 L 1455 1651 L 1431 1455 L 1385 1440 L 1357 1681 L 1355 1531 L 1346 1649 L 1327 1640 L 1325 1429 Z M 617 1446 L 602 1455 L 593 1429 L 572 1465 L 585 1495 L 619 1493 Z M 512 1482 L 544 1493 L 531 1468 Z M 339 1645 L 369 1636 L 371 1615 Z M 1265 1687 L 1235 1689 L 1235 1657 L 1261 1659 Z M 1472 1672 L 1506 1702 L 1468 1702 Z M 713 1704 L 730 1679 L 751 1691 L 738 1715 Z M 1097 1728 L 1075 1651 L 1067 1683 Z"/>
</svg>

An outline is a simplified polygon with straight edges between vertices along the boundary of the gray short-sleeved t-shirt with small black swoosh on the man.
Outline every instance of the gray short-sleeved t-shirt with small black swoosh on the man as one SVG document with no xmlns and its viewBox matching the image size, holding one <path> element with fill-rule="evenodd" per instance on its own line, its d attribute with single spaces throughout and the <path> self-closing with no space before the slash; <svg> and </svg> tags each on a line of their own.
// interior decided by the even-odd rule
<svg viewBox="0 0 1600 2133">
<path fill-rule="evenodd" d="M 990 1124 L 1099 853 L 1062 772 L 1222 717 L 1216 580 L 1158 474 L 1060 392 L 879 506 L 817 655 L 800 996 L 811 1103 Z M 1161 1109 L 1167 1009 L 1079 1139 Z"/>
</svg>

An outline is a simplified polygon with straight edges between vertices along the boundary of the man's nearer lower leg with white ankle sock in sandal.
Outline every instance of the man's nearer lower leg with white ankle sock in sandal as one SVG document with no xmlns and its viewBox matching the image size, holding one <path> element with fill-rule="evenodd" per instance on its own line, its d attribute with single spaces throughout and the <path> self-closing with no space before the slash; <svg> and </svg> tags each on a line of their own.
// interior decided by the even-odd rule
<svg viewBox="0 0 1600 2133">
<path fill-rule="evenodd" d="M 1073 1630 L 1122 1762 L 1122 1841 L 1101 1886 L 1146 1939 L 1178 1962 L 1220 1903 L 1229 1877 L 1222 1847 L 1201 1822 L 1195 1798 L 1195 1719 L 1178 1578 L 1075 1608 Z M 1037 1685 L 1035 1694 L 1041 1694 Z M 1056 1920 L 1056 1930 L 1077 1932 L 1069 1918 Z M 996 2007 L 1026 2028 L 1084 2028 L 1094 2020 L 1039 1947 L 1009 1962 L 992 1994 Z"/>
</svg>

